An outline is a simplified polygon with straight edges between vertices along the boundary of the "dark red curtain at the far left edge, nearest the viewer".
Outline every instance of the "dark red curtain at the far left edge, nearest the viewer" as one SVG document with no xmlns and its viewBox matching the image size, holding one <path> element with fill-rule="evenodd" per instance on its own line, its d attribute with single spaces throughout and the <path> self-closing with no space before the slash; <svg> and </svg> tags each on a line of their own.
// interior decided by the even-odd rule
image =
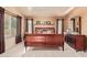
<svg viewBox="0 0 87 65">
<path fill-rule="evenodd" d="M 4 52 L 4 9 L 0 7 L 0 54 Z"/>
</svg>

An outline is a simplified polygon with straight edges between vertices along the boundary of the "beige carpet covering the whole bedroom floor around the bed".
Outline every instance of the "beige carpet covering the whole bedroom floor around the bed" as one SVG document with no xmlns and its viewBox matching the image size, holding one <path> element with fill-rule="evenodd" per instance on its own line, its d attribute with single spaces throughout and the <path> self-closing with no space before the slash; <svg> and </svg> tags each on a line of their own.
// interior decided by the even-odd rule
<svg viewBox="0 0 87 65">
<path fill-rule="evenodd" d="M 20 43 L 6 53 L 0 54 L 0 57 L 87 57 L 87 52 L 76 52 L 65 43 L 64 52 L 62 48 L 29 48 L 24 50 L 24 44 Z"/>
</svg>

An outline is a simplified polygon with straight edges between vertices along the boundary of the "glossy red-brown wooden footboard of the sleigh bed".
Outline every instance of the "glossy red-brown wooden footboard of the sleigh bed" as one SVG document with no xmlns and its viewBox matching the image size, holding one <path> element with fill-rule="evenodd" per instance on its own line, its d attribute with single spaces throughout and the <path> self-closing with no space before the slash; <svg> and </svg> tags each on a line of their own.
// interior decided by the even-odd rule
<svg viewBox="0 0 87 65">
<path fill-rule="evenodd" d="M 64 51 L 63 34 L 25 34 L 24 46 L 32 47 L 62 47 Z"/>
</svg>

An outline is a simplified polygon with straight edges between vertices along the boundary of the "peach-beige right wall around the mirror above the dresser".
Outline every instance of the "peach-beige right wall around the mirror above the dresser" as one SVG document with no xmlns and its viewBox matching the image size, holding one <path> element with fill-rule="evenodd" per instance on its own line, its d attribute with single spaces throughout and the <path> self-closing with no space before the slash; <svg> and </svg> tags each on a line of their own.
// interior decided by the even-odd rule
<svg viewBox="0 0 87 65">
<path fill-rule="evenodd" d="M 87 8 L 75 8 L 65 19 L 65 31 L 68 29 L 70 18 L 81 17 L 81 34 L 87 35 Z"/>
</svg>

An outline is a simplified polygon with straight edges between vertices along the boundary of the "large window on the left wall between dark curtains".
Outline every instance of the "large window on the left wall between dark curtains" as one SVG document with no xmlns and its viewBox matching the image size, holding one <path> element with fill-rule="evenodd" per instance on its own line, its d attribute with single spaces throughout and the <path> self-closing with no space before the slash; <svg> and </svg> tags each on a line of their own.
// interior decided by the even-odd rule
<svg viewBox="0 0 87 65">
<path fill-rule="evenodd" d="M 4 13 L 4 36 L 17 35 L 17 18 Z"/>
</svg>

